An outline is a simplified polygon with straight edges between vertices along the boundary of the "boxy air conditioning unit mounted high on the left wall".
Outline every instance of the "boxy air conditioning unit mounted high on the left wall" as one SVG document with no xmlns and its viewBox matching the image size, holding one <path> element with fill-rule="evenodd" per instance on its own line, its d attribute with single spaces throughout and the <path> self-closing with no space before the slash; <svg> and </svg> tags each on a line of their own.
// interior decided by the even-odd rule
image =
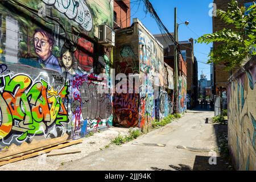
<svg viewBox="0 0 256 182">
<path fill-rule="evenodd" d="M 115 32 L 106 24 L 98 27 L 98 43 L 106 47 L 115 46 Z"/>
</svg>

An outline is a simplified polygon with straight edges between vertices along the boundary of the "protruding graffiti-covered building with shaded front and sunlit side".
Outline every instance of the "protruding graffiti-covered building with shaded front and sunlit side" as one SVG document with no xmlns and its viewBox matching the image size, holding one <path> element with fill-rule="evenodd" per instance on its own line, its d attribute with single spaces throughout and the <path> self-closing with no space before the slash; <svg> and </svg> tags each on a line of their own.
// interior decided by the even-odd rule
<svg viewBox="0 0 256 182">
<path fill-rule="evenodd" d="M 114 124 L 146 130 L 155 114 L 160 112 L 159 94 L 164 86 L 163 48 L 137 19 L 131 27 L 116 31 L 115 43 L 116 75 L 137 74 L 139 88 L 134 88 L 138 93 L 115 94 Z M 156 74 L 159 74 L 157 79 L 154 77 Z M 155 94 L 156 87 L 158 93 Z M 162 97 L 162 100 L 165 102 L 166 98 Z"/>
</svg>

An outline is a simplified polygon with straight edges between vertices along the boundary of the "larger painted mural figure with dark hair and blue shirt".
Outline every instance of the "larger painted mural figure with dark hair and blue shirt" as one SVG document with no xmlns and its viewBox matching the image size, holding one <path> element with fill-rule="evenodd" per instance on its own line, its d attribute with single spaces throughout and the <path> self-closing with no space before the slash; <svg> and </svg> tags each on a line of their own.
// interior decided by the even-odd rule
<svg viewBox="0 0 256 182">
<path fill-rule="evenodd" d="M 36 29 L 34 43 L 36 55 L 39 56 L 39 64 L 43 68 L 54 69 L 62 73 L 59 61 L 51 52 L 54 44 L 53 36 L 42 29 Z"/>
</svg>

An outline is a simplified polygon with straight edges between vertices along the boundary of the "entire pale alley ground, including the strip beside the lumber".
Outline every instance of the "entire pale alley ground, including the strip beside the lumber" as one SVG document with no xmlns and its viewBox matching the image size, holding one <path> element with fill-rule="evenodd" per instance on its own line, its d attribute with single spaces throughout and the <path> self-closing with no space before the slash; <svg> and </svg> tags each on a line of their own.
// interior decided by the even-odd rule
<svg viewBox="0 0 256 182">
<path fill-rule="evenodd" d="M 184 117 L 123 144 L 106 147 L 129 129 L 110 127 L 84 142 L 63 150 L 79 149 L 81 153 L 60 156 L 46 154 L 0 167 L 3 170 L 228 170 L 230 164 L 210 150 L 216 149 L 220 126 L 205 123 L 213 111 L 189 110 Z M 163 144 L 158 145 L 157 144 Z M 211 156 L 217 165 L 210 165 Z M 212 159 L 212 158 L 211 158 Z M 214 161 L 214 160 L 212 160 Z"/>
</svg>

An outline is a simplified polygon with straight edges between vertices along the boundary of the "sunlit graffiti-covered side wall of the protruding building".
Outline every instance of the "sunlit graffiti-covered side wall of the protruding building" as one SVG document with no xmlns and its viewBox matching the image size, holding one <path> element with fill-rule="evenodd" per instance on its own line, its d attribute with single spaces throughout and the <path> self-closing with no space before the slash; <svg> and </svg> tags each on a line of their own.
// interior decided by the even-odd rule
<svg viewBox="0 0 256 182">
<path fill-rule="evenodd" d="M 140 126 L 147 129 L 155 119 L 155 110 L 160 110 L 160 107 L 156 107 L 158 105 L 155 105 L 155 101 L 159 96 L 156 95 L 154 89 L 164 86 L 164 58 L 162 45 L 156 41 L 154 36 L 147 32 L 143 25 L 139 27 L 139 55 L 140 70 L 143 73 L 143 76 L 140 77 L 142 90 L 140 98 L 141 107 L 139 109 L 139 115 L 141 117 Z M 165 98 L 162 98 L 162 100 L 164 100 L 162 104 L 165 104 Z"/>
</svg>

